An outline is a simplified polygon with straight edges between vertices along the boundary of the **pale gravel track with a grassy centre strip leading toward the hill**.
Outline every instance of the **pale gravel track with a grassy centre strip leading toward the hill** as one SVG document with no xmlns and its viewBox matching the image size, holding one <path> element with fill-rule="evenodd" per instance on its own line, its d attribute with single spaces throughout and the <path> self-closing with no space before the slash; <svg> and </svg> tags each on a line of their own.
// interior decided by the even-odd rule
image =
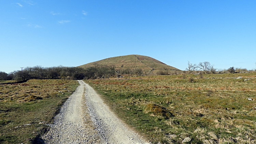
<svg viewBox="0 0 256 144">
<path fill-rule="evenodd" d="M 82 80 L 78 82 L 80 86 L 63 104 L 54 124 L 49 124 L 49 132 L 42 136 L 45 144 L 145 143 L 124 126 L 93 88 Z"/>
</svg>

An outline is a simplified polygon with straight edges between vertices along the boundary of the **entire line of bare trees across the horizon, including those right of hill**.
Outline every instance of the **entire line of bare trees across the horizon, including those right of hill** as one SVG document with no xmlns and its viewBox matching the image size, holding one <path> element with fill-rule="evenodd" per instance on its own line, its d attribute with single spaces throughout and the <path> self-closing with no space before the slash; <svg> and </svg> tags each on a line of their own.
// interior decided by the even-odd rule
<svg viewBox="0 0 256 144">
<path fill-rule="evenodd" d="M 256 63 L 255 63 L 256 64 Z M 200 62 L 199 64 L 192 64 L 188 61 L 188 67 L 186 68 L 189 74 L 194 71 L 201 70 L 206 73 L 216 73 L 217 69 L 210 62 Z M 230 67 L 228 69 L 218 70 L 223 72 L 243 72 L 247 69 Z M 158 71 L 156 75 L 169 75 L 178 74 L 182 71 Z M 183 73 L 186 73 L 183 71 Z M 5 73 L 0 71 L 0 80 L 26 80 L 30 78 L 71 78 L 71 79 L 96 79 L 96 78 L 109 78 L 118 77 L 121 74 L 128 75 L 142 75 L 152 74 L 146 70 L 134 67 L 132 69 L 115 69 L 114 65 L 106 66 L 94 64 L 93 67 L 78 68 L 78 67 L 26 67 L 23 70 L 13 71 L 11 73 Z"/>
</svg>

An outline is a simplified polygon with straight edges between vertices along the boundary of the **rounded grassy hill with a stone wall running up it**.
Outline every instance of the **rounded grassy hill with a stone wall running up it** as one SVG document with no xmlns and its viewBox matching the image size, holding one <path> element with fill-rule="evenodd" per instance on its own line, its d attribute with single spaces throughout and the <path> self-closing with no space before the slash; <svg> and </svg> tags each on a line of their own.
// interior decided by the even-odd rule
<svg viewBox="0 0 256 144">
<path fill-rule="evenodd" d="M 172 66 L 168 66 L 165 63 L 162 63 L 159 60 L 148 56 L 141 56 L 141 55 L 126 55 L 126 56 L 118 56 L 118 57 L 111 57 L 102 59 L 95 62 L 90 62 L 84 64 L 82 66 L 78 66 L 81 68 L 87 67 L 95 67 L 95 66 L 114 66 L 115 69 L 134 69 L 140 68 L 144 71 L 148 72 L 157 72 L 157 71 L 171 71 L 171 70 L 178 70 Z"/>
</svg>

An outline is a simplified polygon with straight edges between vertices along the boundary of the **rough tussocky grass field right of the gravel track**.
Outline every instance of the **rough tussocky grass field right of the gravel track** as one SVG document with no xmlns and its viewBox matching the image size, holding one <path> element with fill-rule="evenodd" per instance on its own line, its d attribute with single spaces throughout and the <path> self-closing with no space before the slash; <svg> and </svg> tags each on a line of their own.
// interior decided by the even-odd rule
<svg viewBox="0 0 256 144">
<path fill-rule="evenodd" d="M 233 78 L 239 76 L 243 79 Z M 85 82 L 126 124 L 153 143 L 180 144 L 189 137 L 191 144 L 253 144 L 255 77 L 256 73 L 236 73 Z"/>
</svg>

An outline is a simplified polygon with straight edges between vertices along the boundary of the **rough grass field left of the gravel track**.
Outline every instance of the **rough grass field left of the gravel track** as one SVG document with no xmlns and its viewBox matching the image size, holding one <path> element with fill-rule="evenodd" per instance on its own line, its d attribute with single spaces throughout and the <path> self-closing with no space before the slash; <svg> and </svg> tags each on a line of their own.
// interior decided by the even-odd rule
<svg viewBox="0 0 256 144">
<path fill-rule="evenodd" d="M 45 124 L 53 122 L 61 104 L 78 85 L 75 80 L 29 80 L 0 85 L 0 143 L 37 141 L 48 128 Z"/>
</svg>

